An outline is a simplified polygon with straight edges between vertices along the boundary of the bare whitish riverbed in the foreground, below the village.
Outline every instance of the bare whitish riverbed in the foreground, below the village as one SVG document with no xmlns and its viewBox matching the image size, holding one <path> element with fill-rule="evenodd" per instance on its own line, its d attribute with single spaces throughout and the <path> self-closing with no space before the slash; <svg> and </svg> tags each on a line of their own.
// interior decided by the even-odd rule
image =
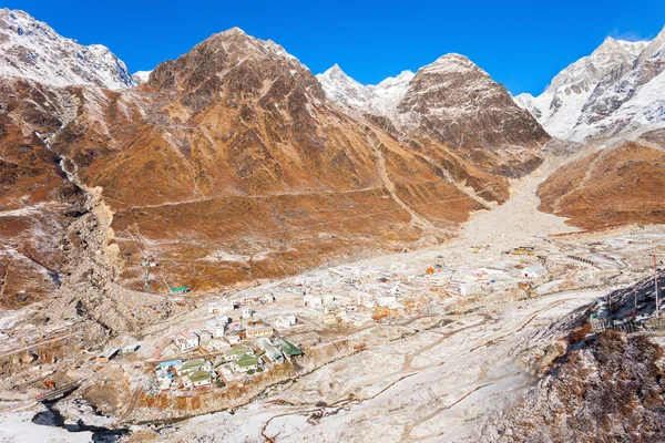
<svg viewBox="0 0 665 443">
<path fill-rule="evenodd" d="M 178 423 L 163 437 L 474 442 L 483 419 L 532 380 L 515 363 L 516 353 L 542 344 L 543 328 L 601 295 L 563 292 L 492 306 L 426 330 L 418 319 L 402 326 L 403 339 L 323 367 L 234 414 Z M 375 329 L 372 333 L 381 333 L 380 326 Z"/>
</svg>

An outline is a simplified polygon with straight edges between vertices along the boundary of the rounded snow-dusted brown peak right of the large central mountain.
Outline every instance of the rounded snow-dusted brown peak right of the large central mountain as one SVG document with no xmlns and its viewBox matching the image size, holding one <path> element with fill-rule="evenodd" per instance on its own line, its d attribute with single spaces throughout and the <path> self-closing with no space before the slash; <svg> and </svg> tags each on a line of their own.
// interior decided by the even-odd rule
<svg viewBox="0 0 665 443">
<path fill-rule="evenodd" d="M 550 140 L 503 85 L 459 54 L 421 68 L 397 111 L 407 137 L 433 138 L 500 175 L 533 171 L 541 163 L 538 148 Z"/>
</svg>

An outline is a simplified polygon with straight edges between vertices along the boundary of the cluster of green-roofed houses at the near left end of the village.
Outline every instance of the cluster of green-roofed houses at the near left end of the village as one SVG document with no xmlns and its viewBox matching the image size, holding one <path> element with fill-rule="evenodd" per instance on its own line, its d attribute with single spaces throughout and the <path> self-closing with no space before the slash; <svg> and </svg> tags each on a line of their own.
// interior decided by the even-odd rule
<svg viewBox="0 0 665 443">
<path fill-rule="evenodd" d="M 260 338 L 253 346 L 233 346 L 214 361 L 196 358 L 161 362 L 155 368 L 155 375 L 161 390 L 209 385 L 224 388 L 236 379 L 264 372 L 267 363 L 283 363 L 285 359 L 301 353 L 299 347 L 285 338 Z"/>
</svg>

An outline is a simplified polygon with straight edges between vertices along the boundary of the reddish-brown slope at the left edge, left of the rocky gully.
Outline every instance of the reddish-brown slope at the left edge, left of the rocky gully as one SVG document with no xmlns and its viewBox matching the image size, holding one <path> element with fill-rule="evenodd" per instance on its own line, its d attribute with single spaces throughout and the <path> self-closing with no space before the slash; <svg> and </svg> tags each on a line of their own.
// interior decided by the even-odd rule
<svg viewBox="0 0 665 443">
<path fill-rule="evenodd" d="M 33 302 L 59 285 L 60 238 L 82 194 L 42 134 L 71 120 L 73 92 L 0 79 L 0 303 Z"/>
</svg>

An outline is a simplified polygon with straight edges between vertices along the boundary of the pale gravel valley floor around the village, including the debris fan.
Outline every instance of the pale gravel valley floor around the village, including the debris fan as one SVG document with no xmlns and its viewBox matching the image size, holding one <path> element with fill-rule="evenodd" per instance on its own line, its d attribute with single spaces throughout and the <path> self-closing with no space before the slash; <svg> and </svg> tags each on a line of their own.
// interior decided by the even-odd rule
<svg viewBox="0 0 665 443">
<path fill-rule="evenodd" d="M 444 267 L 452 269 L 491 267 L 507 260 L 515 262 L 518 269 L 545 262 L 550 275 L 531 281 L 526 285 L 530 289 L 492 290 L 481 297 L 443 296 L 441 309 L 390 316 L 357 328 L 326 326 L 321 317 L 301 307 L 301 296 L 299 299 L 285 297 L 283 301 L 277 297 L 276 303 L 257 307 L 256 317 L 297 313 L 305 320 L 307 331 L 287 334 L 301 337 L 300 343 L 307 342 L 308 337 L 318 337 L 319 341 L 319 344 L 316 340 L 305 343 L 306 354 L 309 349 L 315 353 L 314 347 L 326 342 L 337 347 L 345 340 L 364 346 L 357 352 L 340 353 L 313 367 L 297 378 L 268 384 L 263 392 L 257 392 L 258 396 L 248 398 L 239 405 L 234 403 L 236 406 L 231 412 L 224 410 L 221 402 L 216 410 L 222 412 L 172 424 L 161 421 L 153 425 L 134 425 L 131 439 L 479 441 L 487 419 L 507 408 L 531 385 L 538 371 L 534 364 L 538 365 L 543 349 L 565 334 L 573 313 L 606 295 L 610 288 L 644 277 L 648 272 L 646 251 L 665 243 L 662 226 L 574 234 L 575 229 L 564 219 L 540 213 L 535 189 L 556 166 L 553 157 L 529 177 L 513 182 L 513 194 L 507 204 L 477 213 L 449 244 L 352 264 L 358 268 L 399 270 L 409 275 L 422 274 L 436 261 L 444 261 Z M 562 234 L 566 235 L 557 236 Z M 503 254 L 520 246 L 535 247 L 540 257 Z M 589 257 L 594 266 L 581 265 L 572 256 Z M 326 269 L 317 270 L 245 292 L 278 292 L 280 287 L 295 287 L 296 281 L 311 278 L 313 274 L 320 277 L 326 272 Z M 424 289 L 422 291 L 424 295 Z M 141 380 L 153 371 L 155 362 L 180 357 L 167 346 L 167 339 L 177 331 L 205 323 L 209 317 L 205 305 L 198 305 L 197 309 L 142 331 L 142 348 L 132 360 L 112 361 L 102 368 L 88 362 L 78 371 L 86 374 L 88 385 L 100 389 L 108 383 L 129 383 L 134 394 L 125 401 L 133 408 L 143 389 Z M 10 317 L 8 321 L 12 321 Z M 115 344 L 130 340 L 136 337 L 119 338 Z M 10 391 L 11 387 L 6 382 L 2 389 Z M 47 434 L 47 430 L 51 430 L 44 441 L 71 440 L 62 427 L 33 424 L 28 420 L 42 410 L 29 401 L 29 395 L 9 396 L 8 392 L 0 394 L 7 400 L 0 405 L 0 440 L 28 441 L 32 429 Z M 134 418 L 144 419 L 141 414 L 150 414 L 145 405 L 136 411 L 127 408 L 123 413 L 125 418 L 134 413 Z M 81 441 L 90 436 L 86 431 L 70 434 Z"/>
</svg>

